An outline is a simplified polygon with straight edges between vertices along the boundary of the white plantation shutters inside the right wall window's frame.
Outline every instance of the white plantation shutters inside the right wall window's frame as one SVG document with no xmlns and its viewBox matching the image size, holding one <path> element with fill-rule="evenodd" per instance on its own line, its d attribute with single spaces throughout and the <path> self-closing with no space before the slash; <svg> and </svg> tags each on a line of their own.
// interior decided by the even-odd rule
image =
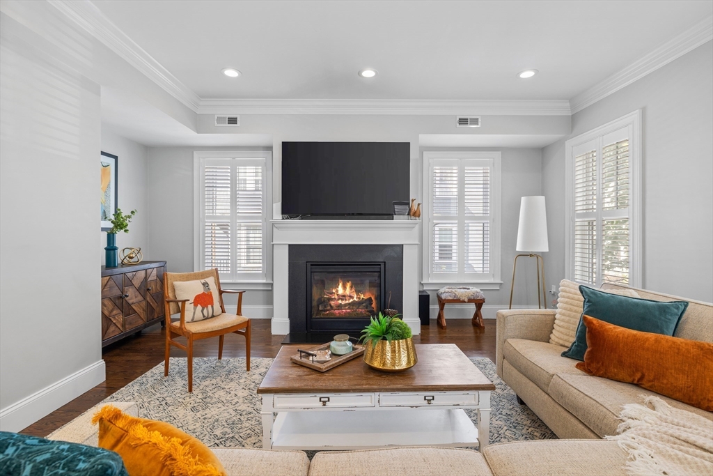
<svg viewBox="0 0 713 476">
<path fill-rule="evenodd" d="M 602 285 L 629 283 L 629 128 L 573 149 L 574 280 Z"/>
</svg>

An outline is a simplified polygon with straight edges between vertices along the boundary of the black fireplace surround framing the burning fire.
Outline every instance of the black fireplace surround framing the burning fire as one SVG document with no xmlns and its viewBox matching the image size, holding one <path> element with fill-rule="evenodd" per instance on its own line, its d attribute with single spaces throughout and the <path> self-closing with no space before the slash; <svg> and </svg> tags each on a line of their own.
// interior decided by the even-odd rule
<svg viewBox="0 0 713 476">
<path fill-rule="evenodd" d="M 391 293 L 391 309 L 401 310 L 404 303 L 403 245 L 289 245 L 289 333 L 349 333 L 356 337 L 369 323 L 371 312 L 384 310 Z M 334 316 L 334 311 L 312 318 L 312 276 L 337 271 L 362 273 L 376 282 L 361 315 Z M 379 276 L 378 281 L 375 279 Z M 346 283 L 345 283 L 346 284 Z M 373 302 L 371 301 L 373 299 Z M 366 303 L 366 299 L 364 300 Z M 369 311 L 367 311 L 367 309 Z M 317 313 L 319 314 L 319 313 Z M 338 312 L 337 312 L 338 314 Z"/>
</svg>

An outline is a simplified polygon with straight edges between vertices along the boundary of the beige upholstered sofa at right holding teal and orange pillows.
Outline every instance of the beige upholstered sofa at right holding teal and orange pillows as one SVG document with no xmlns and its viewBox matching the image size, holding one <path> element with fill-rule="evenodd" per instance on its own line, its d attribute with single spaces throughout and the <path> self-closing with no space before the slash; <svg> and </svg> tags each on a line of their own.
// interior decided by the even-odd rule
<svg viewBox="0 0 713 476">
<path fill-rule="evenodd" d="M 602 289 L 622 288 L 607 284 Z M 713 305 L 636 290 L 641 298 L 689 302 L 675 336 L 713 343 Z M 615 435 L 622 405 L 640 403 L 639 395 L 657 395 L 673 407 L 713 420 L 713 413 L 644 390 L 637 385 L 591 377 L 561 357 L 565 348 L 550 344 L 555 310 L 501 310 L 497 315 L 498 375 L 560 438 Z"/>
</svg>

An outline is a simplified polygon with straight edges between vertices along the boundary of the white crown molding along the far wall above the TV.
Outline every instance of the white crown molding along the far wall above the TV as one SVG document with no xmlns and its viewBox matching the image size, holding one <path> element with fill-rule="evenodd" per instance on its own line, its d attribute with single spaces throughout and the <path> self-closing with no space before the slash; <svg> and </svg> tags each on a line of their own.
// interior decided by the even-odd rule
<svg viewBox="0 0 713 476">
<path fill-rule="evenodd" d="M 562 100 L 201 99 L 202 114 L 389 114 L 419 116 L 569 116 Z"/>
</svg>

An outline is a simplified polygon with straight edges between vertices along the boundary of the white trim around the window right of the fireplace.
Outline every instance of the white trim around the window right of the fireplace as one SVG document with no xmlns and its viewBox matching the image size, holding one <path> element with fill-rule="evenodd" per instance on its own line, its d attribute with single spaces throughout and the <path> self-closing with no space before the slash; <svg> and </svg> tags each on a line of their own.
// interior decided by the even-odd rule
<svg viewBox="0 0 713 476">
<path fill-rule="evenodd" d="M 491 176 L 491 198 L 493 206 L 491 208 L 491 216 L 493 217 L 493 226 L 491 229 L 491 268 L 493 270 L 491 279 L 489 280 L 458 280 L 454 282 L 452 278 L 444 278 L 443 280 L 431 279 L 431 211 L 428 209 L 431 203 L 431 173 L 430 166 L 432 159 L 481 159 L 493 161 L 493 175 Z M 423 278 L 421 283 L 424 289 L 440 289 L 447 285 L 468 285 L 480 284 L 481 289 L 497 290 L 500 289 L 501 281 L 501 153 L 498 151 L 483 152 L 483 151 L 426 151 L 424 152 L 424 167 L 423 167 L 423 190 L 424 190 L 424 224 L 421 227 L 423 232 Z"/>
</svg>

